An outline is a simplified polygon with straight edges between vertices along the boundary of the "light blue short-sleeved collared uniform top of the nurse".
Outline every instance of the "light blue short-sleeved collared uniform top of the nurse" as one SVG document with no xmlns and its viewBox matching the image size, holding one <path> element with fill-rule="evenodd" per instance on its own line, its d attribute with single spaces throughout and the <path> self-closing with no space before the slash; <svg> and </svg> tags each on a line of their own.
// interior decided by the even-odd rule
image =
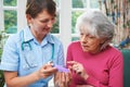
<svg viewBox="0 0 130 87">
<path fill-rule="evenodd" d="M 30 29 L 26 27 L 20 33 L 10 36 L 6 40 L 0 70 L 16 71 L 18 76 L 25 76 L 38 71 L 49 61 L 64 65 L 62 42 L 53 35 L 48 34 L 42 42 L 39 44 Z M 28 87 L 48 87 L 48 82 L 51 77 L 42 78 Z"/>
</svg>

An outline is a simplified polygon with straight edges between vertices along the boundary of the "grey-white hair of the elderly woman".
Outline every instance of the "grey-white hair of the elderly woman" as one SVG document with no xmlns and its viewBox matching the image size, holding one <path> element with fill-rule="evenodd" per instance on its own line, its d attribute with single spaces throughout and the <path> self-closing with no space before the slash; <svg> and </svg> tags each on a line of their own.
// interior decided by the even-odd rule
<svg viewBox="0 0 130 87">
<path fill-rule="evenodd" d="M 114 37 L 114 24 L 101 11 L 89 10 L 77 18 L 76 28 L 86 29 L 90 35 L 104 39 L 101 50 L 112 41 Z"/>
</svg>

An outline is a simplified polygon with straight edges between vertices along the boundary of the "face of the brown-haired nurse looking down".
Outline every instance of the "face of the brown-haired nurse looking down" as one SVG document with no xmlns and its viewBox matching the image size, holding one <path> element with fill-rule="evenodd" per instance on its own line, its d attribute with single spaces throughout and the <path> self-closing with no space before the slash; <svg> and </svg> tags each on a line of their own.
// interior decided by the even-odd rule
<svg viewBox="0 0 130 87">
<path fill-rule="evenodd" d="M 55 15 L 52 16 L 43 10 L 35 18 L 29 16 L 28 21 L 30 29 L 35 36 L 44 36 L 50 33 L 55 22 Z"/>
</svg>

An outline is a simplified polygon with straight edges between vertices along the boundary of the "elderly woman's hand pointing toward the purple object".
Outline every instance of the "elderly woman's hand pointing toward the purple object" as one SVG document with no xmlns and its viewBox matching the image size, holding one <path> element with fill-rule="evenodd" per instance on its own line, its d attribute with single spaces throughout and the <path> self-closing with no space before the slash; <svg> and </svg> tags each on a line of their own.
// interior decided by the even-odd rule
<svg viewBox="0 0 130 87">
<path fill-rule="evenodd" d="M 74 72 L 76 72 L 76 74 L 80 75 L 82 78 L 87 79 L 89 77 L 89 75 L 87 74 L 83 65 L 81 63 L 78 63 L 76 61 L 68 61 L 67 62 L 69 64 L 69 69 Z"/>
</svg>

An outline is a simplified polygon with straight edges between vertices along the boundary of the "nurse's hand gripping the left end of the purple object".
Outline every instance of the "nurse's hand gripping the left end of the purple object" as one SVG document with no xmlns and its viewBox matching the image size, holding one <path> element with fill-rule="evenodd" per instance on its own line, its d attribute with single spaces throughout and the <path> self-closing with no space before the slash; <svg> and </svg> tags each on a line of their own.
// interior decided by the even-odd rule
<svg viewBox="0 0 130 87">
<path fill-rule="evenodd" d="M 43 65 L 38 72 L 39 79 L 40 78 L 47 78 L 51 76 L 52 74 L 56 73 L 57 69 L 53 67 L 51 63 Z"/>
</svg>

